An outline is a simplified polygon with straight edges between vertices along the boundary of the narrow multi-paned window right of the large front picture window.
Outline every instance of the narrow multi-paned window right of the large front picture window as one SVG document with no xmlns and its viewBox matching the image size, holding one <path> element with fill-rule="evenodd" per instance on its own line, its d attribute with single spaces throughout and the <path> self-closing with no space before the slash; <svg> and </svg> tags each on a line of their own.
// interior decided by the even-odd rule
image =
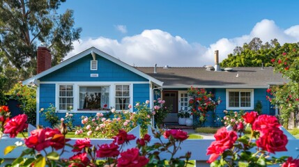
<svg viewBox="0 0 299 167">
<path fill-rule="evenodd" d="M 128 109 L 130 104 L 130 85 L 116 85 L 115 107 L 116 110 Z"/>
</svg>

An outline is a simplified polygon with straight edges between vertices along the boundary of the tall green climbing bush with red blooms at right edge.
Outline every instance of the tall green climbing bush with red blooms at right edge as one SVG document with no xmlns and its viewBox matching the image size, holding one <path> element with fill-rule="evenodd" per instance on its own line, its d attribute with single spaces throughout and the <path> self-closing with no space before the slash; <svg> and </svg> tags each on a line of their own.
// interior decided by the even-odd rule
<svg viewBox="0 0 299 167">
<path fill-rule="evenodd" d="M 275 72 L 279 72 L 289 82 L 283 86 L 273 86 L 268 92 L 268 100 L 279 107 L 279 117 L 284 126 L 289 127 L 291 113 L 294 116 L 294 125 L 297 125 L 296 116 L 299 106 L 299 45 L 298 43 L 284 44 L 277 50 L 279 56 L 271 61 L 275 67 Z"/>
</svg>

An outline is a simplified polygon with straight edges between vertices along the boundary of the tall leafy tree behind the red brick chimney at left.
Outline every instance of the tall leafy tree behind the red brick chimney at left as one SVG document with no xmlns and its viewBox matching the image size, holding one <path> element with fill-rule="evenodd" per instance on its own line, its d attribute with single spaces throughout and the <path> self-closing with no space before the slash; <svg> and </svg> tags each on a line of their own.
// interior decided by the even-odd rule
<svg viewBox="0 0 299 167">
<path fill-rule="evenodd" d="M 52 50 L 52 65 L 60 63 L 79 39 L 81 28 L 73 28 L 73 11 L 59 15 L 66 0 L 0 1 L 0 65 L 3 74 L 26 79 L 36 74 L 36 50 L 41 42 Z M 9 72 L 7 72 L 7 69 Z M 13 84 L 11 84 L 13 85 Z"/>
</svg>

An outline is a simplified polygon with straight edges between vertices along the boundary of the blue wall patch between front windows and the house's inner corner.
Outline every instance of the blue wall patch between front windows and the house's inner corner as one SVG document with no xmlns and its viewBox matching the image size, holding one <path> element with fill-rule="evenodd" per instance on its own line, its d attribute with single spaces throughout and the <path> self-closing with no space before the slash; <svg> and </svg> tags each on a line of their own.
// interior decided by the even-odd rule
<svg viewBox="0 0 299 167">
<path fill-rule="evenodd" d="M 133 103 L 144 103 L 146 100 L 150 100 L 149 97 L 149 84 L 133 84 Z"/>
</svg>

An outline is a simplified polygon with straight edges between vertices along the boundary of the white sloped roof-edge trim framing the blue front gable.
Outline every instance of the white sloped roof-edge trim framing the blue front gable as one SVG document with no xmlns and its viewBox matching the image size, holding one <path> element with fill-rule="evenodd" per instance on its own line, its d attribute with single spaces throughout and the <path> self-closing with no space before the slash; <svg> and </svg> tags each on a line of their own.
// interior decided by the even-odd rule
<svg viewBox="0 0 299 167">
<path fill-rule="evenodd" d="M 122 67 L 135 72 L 135 74 L 139 74 L 141 77 L 144 77 L 145 79 L 148 79 L 149 81 L 153 81 L 153 83 L 158 84 L 159 86 L 162 86 L 163 82 L 155 79 L 154 77 L 151 77 L 148 74 L 145 74 L 144 72 L 141 72 L 137 70 L 135 67 L 132 67 L 131 65 L 128 65 L 127 63 L 124 63 L 123 61 L 118 60 L 117 58 L 114 58 L 113 56 L 110 56 L 109 54 L 106 54 L 104 51 L 100 51 L 99 49 L 96 49 L 95 47 L 91 47 L 89 49 L 86 49 L 85 51 L 82 51 L 81 53 L 72 56 L 71 58 L 68 58 L 66 61 L 63 61 L 59 63 L 58 65 L 55 65 L 54 67 L 49 68 L 48 70 L 45 70 L 44 72 L 40 72 L 40 74 L 36 74 L 36 76 L 31 77 L 29 79 L 26 79 L 23 81 L 23 84 L 29 84 L 31 82 L 36 83 L 38 79 L 41 77 L 44 77 L 45 75 L 54 72 L 56 70 L 59 70 L 61 67 L 64 67 L 74 61 L 79 60 L 80 58 L 87 56 L 88 54 L 91 54 L 91 51 L 93 51 L 95 54 L 98 54 L 99 56 L 102 56 L 103 58 L 107 58 L 109 61 L 112 61 L 116 63 L 117 65 L 121 65 Z"/>
</svg>

